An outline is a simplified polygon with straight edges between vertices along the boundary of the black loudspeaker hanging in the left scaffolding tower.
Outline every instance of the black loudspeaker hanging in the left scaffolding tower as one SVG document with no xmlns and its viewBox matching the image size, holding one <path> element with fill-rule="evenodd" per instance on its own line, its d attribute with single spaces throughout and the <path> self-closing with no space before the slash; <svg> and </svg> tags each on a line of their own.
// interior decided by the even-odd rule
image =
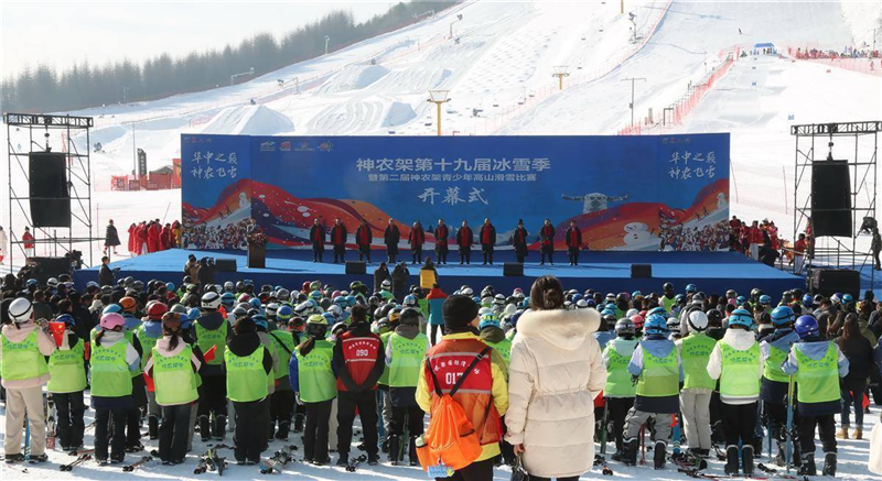
<svg viewBox="0 0 882 481">
<path fill-rule="evenodd" d="M 67 190 L 65 155 L 31 152 L 28 160 L 33 227 L 71 227 L 71 194 Z"/>
</svg>

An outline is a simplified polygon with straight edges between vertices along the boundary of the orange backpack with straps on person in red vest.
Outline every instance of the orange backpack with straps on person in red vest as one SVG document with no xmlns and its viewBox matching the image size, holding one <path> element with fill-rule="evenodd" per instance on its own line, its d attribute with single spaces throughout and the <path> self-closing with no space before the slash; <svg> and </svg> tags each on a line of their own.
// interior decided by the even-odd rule
<svg viewBox="0 0 882 481">
<path fill-rule="evenodd" d="M 426 444 L 419 446 L 420 442 L 418 442 L 417 446 L 417 456 L 424 471 L 439 464 L 444 464 L 454 471 L 460 470 L 481 456 L 482 448 L 477 433 L 475 433 L 472 422 L 465 416 L 465 411 L 460 403 L 453 400 L 453 395 L 460 390 L 475 365 L 490 354 L 490 351 L 491 348 L 486 348 L 475 357 L 448 394 L 441 392 L 434 370 L 428 361 L 426 362 L 426 369 L 434 382 L 435 397 L 432 400 L 433 408 L 432 416 L 429 418 L 429 427 L 423 435 Z"/>
</svg>

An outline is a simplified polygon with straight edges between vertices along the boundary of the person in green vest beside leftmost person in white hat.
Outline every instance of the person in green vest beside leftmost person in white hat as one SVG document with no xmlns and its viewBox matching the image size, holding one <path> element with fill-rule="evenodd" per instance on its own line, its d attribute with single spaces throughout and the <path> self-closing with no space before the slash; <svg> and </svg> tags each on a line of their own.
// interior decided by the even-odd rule
<svg viewBox="0 0 882 481">
<path fill-rule="evenodd" d="M 49 358 L 49 373 L 52 376 L 46 391 L 55 404 L 55 431 L 63 451 L 78 450 L 83 447 L 86 430 L 83 414 L 86 405 L 83 398 L 86 391 L 86 347 L 76 335 L 76 319 L 68 314 L 55 318 L 63 323 L 64 335 L 58 349 Z"/>
</svg>

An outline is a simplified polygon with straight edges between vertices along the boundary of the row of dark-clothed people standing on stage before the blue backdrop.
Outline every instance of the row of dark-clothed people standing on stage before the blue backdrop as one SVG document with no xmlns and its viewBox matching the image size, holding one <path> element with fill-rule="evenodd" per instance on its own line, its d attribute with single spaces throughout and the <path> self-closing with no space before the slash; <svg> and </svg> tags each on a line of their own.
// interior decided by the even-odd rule
<svg viewBox="0 0 882 481">
<path fill-rule="evenodd" d="M 407 236 L 407 242 L 410 247 L 411 264 L 417 264 L 422 260 L 422 248 L 426 244 L 426 229 L 419 221 L 413 222 L 410 232 Z M 450 243 L 453 241 L 456 245 L 460 255 L 460 264 L 472 263 L 472 247 L 475 243 L 481 245 L 481 254 L 484 259 L 483 265 L 493 265 L 493 253 L 496 248 L 496 228 L 491 223 L 490 219 L 484 219 L 484 223 L 477 232 L 477 242 L 475 242 L 475 234 L 469 222 L 463 220 L 455 234 L 452 229 L 444 223 L 444 219 L 438 219 L 438 225 L 434 229 L 429 229 L 435 238 L 434 253 L 438 264 L 448 263 L 448 253 L 450 251 Z M 546 259 L 551 265 L 555 265 L 555 226 L 550 219 L 545 219 L 545 223 L 539 228 L 539 234 L 536 240 L 540 244 L 540 264 L 545 265 Z M 331 227 L 330 232 L 315 219 L 312 228 L 310 228 L 310 242 L 312 243 L 312 262 L 323 262 L 323 254 L 325 243 L 333 247 L 334 263 L 345 262 L 346 243 L 349 239 L 349 232 L 346 226 L 340 219 L 334 219 L 334 225 Z M 517 262 L 524 263 L 527 258 L 528 245 L 530 244 L 529 233 L 524 227 L 524 220 L 518 220 L 517 228 L 512 233 L 510 244 L 515 249 L 515 256 Z M 398 244 L 401 241 L 401 231 L 395 223 L 395 219 L 389 219 L 386 230 L 383 232 L 383 243 L 386 245 L 386 256 L 389 263 L 395 263 L 398 260 Z M 370 247 L 374 242 L 374 233 L 370 226 L 366 220 L 355 230 L 355 245 L 358 250 L 358 260 L 370 262 Z M 567 256 L 569 258 L 570 265 L 579 265 L 579 252 L 582 249 L 588 249 L 588 240 L 582 238 L 582 231 L 576 225 L 576 221 L 570 221 L 570 227 L 567 229 L 566 234 Z"/>
</svg>

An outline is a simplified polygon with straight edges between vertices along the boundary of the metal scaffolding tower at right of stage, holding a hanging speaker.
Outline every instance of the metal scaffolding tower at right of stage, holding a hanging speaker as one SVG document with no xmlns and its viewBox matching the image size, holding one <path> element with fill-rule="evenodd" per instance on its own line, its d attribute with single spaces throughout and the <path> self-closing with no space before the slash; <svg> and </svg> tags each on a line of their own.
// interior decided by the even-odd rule
<svg viewBox="0 0 882 481">
<path fill-rule="evenodd" d="M 794 241 L 806 228 L 811 227 L 813 164 L 851 156 L 846 161 L 851 181 L 851 207 L 841 209 L 851 215 L 851 236 L 809 238 L 803 265 L 809 277 L 815 269 L 849 269 L 864 274 L 869 264 L 869 278 L 871 285 L 875 285 L 870 242 L 859 243 L 858 239 L 861 228 L 864 227 L 864 219 L 873 219 L 873 222 L 875 219 L 879 132 L 882 132 L 882 121 L 790 127 L 790 135 L 796 138 Z M 816 145 L 818 140 L 822 144 Z M 797 265 L 798 263 L 794 263 L 795 267 Z"/>
</svg>

